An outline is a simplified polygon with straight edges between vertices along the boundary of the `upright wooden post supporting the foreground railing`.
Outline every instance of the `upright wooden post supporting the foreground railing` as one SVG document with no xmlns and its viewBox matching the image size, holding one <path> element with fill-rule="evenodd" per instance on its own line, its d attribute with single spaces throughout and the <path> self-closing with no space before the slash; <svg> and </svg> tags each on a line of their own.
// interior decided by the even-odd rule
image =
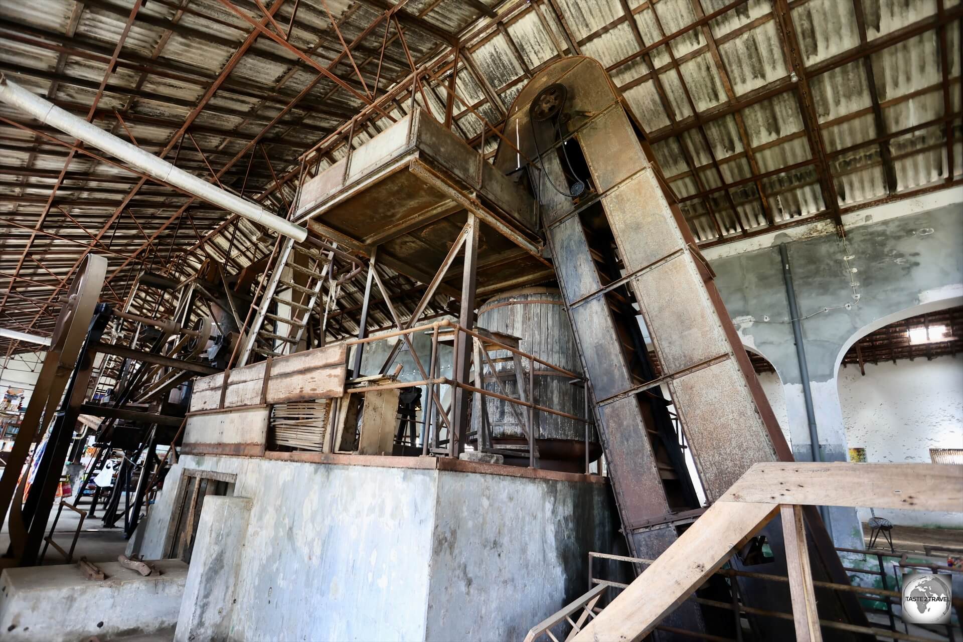
<svg viewBox="0 0 963 642">
<path fill-rule="evenodd" d="M 786 541 L 786 567 L 790 595 L 793 598 L 793 622 L 797 642 L 822 642 L 820 615 L 816 610 L 816 591 L 806 548 L 806 526 L 802 506 L 783 504 L 783 538 Z"/>
</svg>

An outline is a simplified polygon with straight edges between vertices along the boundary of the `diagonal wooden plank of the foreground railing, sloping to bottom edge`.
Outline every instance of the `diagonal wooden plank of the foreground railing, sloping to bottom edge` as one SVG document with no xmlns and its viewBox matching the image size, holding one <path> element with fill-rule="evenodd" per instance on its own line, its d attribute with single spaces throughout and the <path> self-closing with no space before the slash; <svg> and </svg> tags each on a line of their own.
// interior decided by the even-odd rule
<svg viewBox="0 0 963 642">
<path fill-rule="evenodd" d="M 777 510 L 775 503 L 716 502 L 574 639 L 641 639 Z"/>
</svg>

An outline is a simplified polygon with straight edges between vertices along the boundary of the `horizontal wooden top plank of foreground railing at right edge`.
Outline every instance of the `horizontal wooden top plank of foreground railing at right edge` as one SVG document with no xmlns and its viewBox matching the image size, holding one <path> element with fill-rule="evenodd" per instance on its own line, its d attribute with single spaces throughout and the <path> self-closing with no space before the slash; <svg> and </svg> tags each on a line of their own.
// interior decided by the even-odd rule
<svg viewBox="0 0 963 642">
<path fill-rule="evenodd" d="M 755 464 L 719 501 L 958 512 L 963 506 L 963 466 L 803 462 Z"/>
</svg>

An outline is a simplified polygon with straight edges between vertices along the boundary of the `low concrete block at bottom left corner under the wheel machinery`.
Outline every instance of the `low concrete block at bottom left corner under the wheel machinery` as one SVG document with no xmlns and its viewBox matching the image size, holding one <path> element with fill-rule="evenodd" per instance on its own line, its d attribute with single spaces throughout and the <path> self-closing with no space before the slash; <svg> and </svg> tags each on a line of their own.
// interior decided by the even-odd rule
<svg viewBox="0 0 963 642">
<path fill-rule="evenodd" d="M 173 627 L 188 567 L 174 559 L 155 564 L 163 575 L 144 578 L 118 562 L 100 563 L 103 581 L 84 577 L 76 564 L 5 569 L 0 636 L 5 642 L 76 642 Z"/>
</svg>

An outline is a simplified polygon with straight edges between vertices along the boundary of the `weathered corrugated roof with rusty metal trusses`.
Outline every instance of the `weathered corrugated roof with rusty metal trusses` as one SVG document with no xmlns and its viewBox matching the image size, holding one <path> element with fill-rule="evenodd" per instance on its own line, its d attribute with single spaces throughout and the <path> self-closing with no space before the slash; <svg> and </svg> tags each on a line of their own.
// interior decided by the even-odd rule
<svg viewBox="0 0 963 642">
<path fill-rule="evenodd" d="M 342 44 L 324 3 L 275 0 L 265 4 L 276 7 L 278 1 L 280 9 L 274 17 L 288 41 L 317 64 L 332 64 Z M 106 90 L 93 115 L 95 124 L 120 136 L 133 135 L 154 153 L 173 145 L 169 159 L 176 154 L 179 166 L 209 179 L 205 159 L 215 169 L 233 161 L 221 182 L 237 192 L 243 189 L 248 196 L 272 192 L 266 188 L 273 184 L 274 175 L 292 170 L 296 175 L 299 154 L 363 105 L 358 95 L 319 77 L 318 69 L 262 35 L 221 79 L 221 88 L 190 126 L 202 157 L 193 141 L 185 138 L 178 144 L 174 135 L 224 75 L 225 65 L 249 37 L 251 27 L 219 0 L 151 0 L 127 33 L 119 64 L 108 72 L 132 4 L 132 0 L 89 0 L 83 5 L 73 0 L 2 3 L 0 69 L 81 116 L 90 110 L 106 74 Z M 254 3 L 235 0 L 235 4 L 247 15 L 263 18 Z M 392 4 L 389 0 L 326 0 L 348 42 Z M 505 106 L 510 105 L 527 77 L 571 49 L 568 42 L 574 39 L 574 47 L 606 65 L 623 90 L 702 244 L 771 229 L 769 220 L 780 225 L 830 217 L 841 208 L 947 183 L 947 99 L 953 114 L 961 109 L 960 0 L 943 3 L 952 18 L 943 21 L 944 27 L 937 15 L 937 0 L 789 0 L 789 18 L 804 65 L 796 71 L 802 74 L 791 74 L 787 58 L 778 11 L 784 0 L 628 0 L 627 4 L 631 16 L 623 12 L 619 0 L 409 0 L 395 13 L 404 41 L 392 20 L 388 46 L 381 56 L 385 31 L 379 24 L 354 47 L 352 59 L 368 90 L 375 89 L 375 77 L 379 77 L 377 91 L 383 95 L 410 72 L 404 45 L 418 64 L 441 61 L 440 66 L 445 66 L 450 59 L 444 56 L 455 38 L 472 35 L 463 43 L 472 64 L 462 58 L 455 91 L 463 103 L 497 124 L 504 115 L 502 107 L 490 103 L 490 92 L 494 90 Z M 504 30 L 483 14 L 485 8 L 499 13 Z M 865 24 L 866 45 L 861 44 L 857 8 Z M 703 15 L 714 17 L 700 20 Z M 943 39 L 946 70 L 941 64 Z M 651 48 L 657 42 L 661 45 Z M 647 48 L 647 55 L 638 54 L 640 46 Z M 872 85 L 862 58 L 867 47 L 872 48 L 868 58 Z M 439 71 L 440 66 L 433 68 L 447 85 L 450 71 Z M 475 77 L 471 66 L 477 67 L 482 79 Z M 365 93 L 349 59 L 342 57 L 333 71 L 357 94 Z M 949 82 L 944 82 L 944 75 Z M 808 140 L 808 116 L 799 89 L 808 89 L 825 159 L 814 155 Z M 429 87 L 426 94 L 432 114 L 443 118 L 445 88 Z M 385 110 L 401 117 L 409 101 L 402 93 Z M 422 101 L 417 96 L 417 102 Z M 5 105 L 0 105 L 0 116 L 28 127 L 36 125 Z M 456 131 L 467 139 L 477 138 L 482 130 L 462 102 L 455 105 L 455 123 Z M 380 122 L 376 119 L 359 127 L 353 144 L 368 140 L 386 124 L 382 117 Z M 958 117 L 953 126 L 953 167 L 958 177 L 963 174 Z M 905 133 L 883 141 L 881 147 L 878 138 L 889 132 Z M 40 128 L 39 133 L 65 139 L 49 129 Z M 255 140 L 258 145 L 252 153 Z M 494 143 L 490 138 L 486 149 Z M 60 284 L 44 268 L 68 279 L 82 245 L 91 244 L 91 234 L 113 252 L 109 273 L 118 297 L 144 264 L 169 265 L 177 259 L 185 270 L 196 269 L 205 256 L 195 247 L 196 235 L 210 235 L 207 243 L 222 251 L 228 246 L 232 251 L 240 248 L 227 263 L 228 270 L 239 270 L 273 246 L 247 221 L 237 228 L 231 245 L 234 224 L 215 233 L 224 213 L 202 203 L 192 206 L 189 220 L 176 218 L 187 198 L 154 183 L 147 183 L 114 219 L 139 177 L 83 153 L 76 153 L 65 167 L 68 152 L 64 145 L 0 122 L 0 216 L 6 221 L 0 231 L 0 281 L 13 284 L 18 296 L 34 300 L 44 310 L 38 316 L 33 303 L 8 297 L 0 313 L 14 329 L 49 331 L 51 314 L 57 309 L 55 288 Z M 895 192 L 887 183 L 884 152 L 895 171 Z M 334 148 L 320 166 L 344 153 L 344 147 Z M 831 171 L 829 180 L 839 197 L 829 207 L 820 187 L 823 166 Z M 65 180 L 48 209 L 47 199 L 64 171 Z M 296 182 L 290 181 L 282 188 L 283 197 L 270 193 L 262 202 L 281 211 L 295 190 Z M 38 233 L 30 241 L 34 228 Z M 117 270 L 135 252 L 138 256 Z M 0 349 L 10 346 L 0 342 Z"/>
</svg>

